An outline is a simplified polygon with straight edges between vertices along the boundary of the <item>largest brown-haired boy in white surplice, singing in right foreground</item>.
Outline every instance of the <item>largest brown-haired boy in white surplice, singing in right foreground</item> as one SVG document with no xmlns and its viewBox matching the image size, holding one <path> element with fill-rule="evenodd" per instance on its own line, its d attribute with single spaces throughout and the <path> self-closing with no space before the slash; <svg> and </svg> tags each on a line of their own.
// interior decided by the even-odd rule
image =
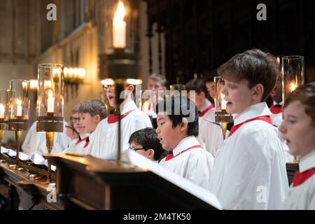
<svg viewBox="0 0 315 224">
<path fill-rule="evenodd" d="M 265 103 L 279 75 L 276 59 L 247 50 L 218 73 L 225 80 L 226 110 L 237 116 L 216 154 L 210 190 L 225 209 L 280 209 L 288 177 L 283 145 Z"/>
</svg>

